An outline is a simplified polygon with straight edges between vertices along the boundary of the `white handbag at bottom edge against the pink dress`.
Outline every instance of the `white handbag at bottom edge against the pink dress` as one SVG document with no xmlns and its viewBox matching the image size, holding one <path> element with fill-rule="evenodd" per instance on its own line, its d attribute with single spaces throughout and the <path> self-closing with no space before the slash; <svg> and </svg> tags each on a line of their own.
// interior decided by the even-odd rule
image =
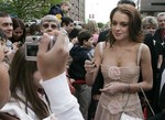
<svg viewBox="0 0 165 120">
<path fill-rule="evenodd" d="M 143 119 L 130 116 L 125 112 L 122 112 L 121 117 L 120 117 L 120 120 L 143 120 Z"/>
</svg>

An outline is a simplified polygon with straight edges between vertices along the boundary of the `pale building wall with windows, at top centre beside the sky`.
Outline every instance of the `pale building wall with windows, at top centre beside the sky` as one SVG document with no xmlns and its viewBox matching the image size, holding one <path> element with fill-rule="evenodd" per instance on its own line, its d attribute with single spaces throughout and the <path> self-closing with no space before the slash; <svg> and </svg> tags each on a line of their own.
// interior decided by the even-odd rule
<svg viewBox="0 0 165 120">
<path fill-rule="evenodd" d="M 69 0 L 72 10 L 69 17 L 74 21 L 85 21 L 85 0 Z"/>
</svg>

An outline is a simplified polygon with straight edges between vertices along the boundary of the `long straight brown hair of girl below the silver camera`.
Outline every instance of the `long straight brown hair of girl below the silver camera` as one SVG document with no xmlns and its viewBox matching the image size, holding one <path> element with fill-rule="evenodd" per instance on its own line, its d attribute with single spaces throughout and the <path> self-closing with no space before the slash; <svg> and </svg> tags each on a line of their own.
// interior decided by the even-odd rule
<svg viewBox="0 0 165 120">
<path fill-rule="evenodd" d="M 22 101 L 25 105 L 25 111 L 31 108 L 34 113 L 44 119 L 50 116 L 46 103 L 38 97 L 37 88 L 34 85 L 33 74 L 37 70 L 36 62 L 25 61 L 25 47 L 21 46 L 15 53 L 11 67 L 11 97 Z M 20 96 L 21 91 L 24 96 Z"/>
</svg>

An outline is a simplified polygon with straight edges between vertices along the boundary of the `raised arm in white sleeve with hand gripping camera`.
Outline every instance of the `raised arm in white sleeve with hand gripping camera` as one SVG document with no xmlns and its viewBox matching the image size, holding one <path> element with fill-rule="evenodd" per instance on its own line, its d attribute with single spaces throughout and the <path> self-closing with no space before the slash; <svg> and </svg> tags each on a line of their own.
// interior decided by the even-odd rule
<svg viewBox="0 0 165 120">
<path fill-rule="evenodd" d="M 58 120 L 84 120 L 77 99 L 70 94 L 66 78 L 68 48 L 66 35 L 59 33 L 54 46 L 47 51 L 48 35 L 44 34 L 38 47 L 37 66 L 41 81 Z"/>
</svg>

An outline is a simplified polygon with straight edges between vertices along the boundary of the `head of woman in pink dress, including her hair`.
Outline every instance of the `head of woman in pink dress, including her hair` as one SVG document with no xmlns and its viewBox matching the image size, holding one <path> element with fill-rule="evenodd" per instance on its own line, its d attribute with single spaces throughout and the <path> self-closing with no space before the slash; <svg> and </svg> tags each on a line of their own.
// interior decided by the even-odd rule
<svg viewBox="0 0 165 120">
<path fill-rule="evenodd" d="M 109 41 L 113 44 L 116 41 L 129 40 L 142 42 L 142 21 L 140 12 L 130 4 L 116 7 L 110 14 L 111 30 Z"/>
</svg>

